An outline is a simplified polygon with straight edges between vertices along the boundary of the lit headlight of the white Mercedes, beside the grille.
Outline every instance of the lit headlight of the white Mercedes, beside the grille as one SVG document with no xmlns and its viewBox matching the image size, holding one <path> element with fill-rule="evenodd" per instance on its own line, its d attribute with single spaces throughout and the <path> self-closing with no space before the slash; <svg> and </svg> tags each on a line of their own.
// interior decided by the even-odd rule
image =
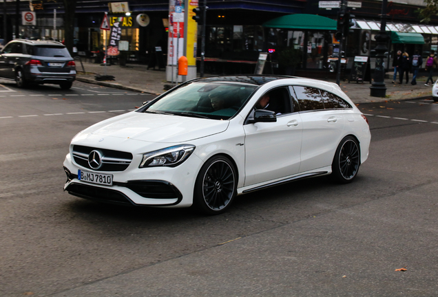
<svg viewBox="0 0 438 297">
<path fill-rule="evenodd" d="M 170 146 L 158 151 L 145 153 L 139 168 L 169 166 L 175 167 L 183 163 L 191 153 L 195 150 L 194 145 L 182 144 L 178 146 Z"/>
</svg>

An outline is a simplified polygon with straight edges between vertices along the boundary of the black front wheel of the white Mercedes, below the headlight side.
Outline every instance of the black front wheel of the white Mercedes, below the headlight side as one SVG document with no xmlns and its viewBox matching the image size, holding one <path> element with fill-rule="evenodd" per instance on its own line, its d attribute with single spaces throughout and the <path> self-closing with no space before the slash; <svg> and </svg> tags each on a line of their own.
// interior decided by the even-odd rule
<svg viewBox="0 0 438 297">
<path fill-rule="evenodd" d="M 236 197 L 237 181 L 236 167 L 228 157 L 212 157 L 196 178 L 194 207 L 203 214 L 225 212 Z"/>
</svg>

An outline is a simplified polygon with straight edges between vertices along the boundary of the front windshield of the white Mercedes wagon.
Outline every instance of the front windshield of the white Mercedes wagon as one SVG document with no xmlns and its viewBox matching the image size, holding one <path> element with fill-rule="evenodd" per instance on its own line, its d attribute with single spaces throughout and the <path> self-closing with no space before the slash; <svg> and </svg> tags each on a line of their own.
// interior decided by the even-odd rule
<svg viewBox="0 0 438 297">
<path fill-rule="evenodd" d="M 257 86 L 191 83 L 161 98 L 143 112 L 228 120 L 247 102 Z"/>
</svg>

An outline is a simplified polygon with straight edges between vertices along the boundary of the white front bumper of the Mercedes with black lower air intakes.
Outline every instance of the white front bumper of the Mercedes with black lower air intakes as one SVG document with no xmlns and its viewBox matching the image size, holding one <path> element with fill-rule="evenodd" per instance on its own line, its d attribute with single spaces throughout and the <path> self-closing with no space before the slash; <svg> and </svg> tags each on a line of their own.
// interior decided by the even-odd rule
<svg viewBox="0 0 438 297">
<path fill-rule="evenodd" d="M 173 168 L 138 168 L 138 164 L 131 164 L 122 172 L 108 172 L 113 175 L 112 186 L 103 186 L 79 180 L 78 169 L 90 169 L 72 162 L 68 154 L 63 164 L 67 175 L 64 190 L 77 197 L 105 203 L 188 207 L 193 203 L 196 173 L 201 165 L 196 155 Z"/>
</svg>

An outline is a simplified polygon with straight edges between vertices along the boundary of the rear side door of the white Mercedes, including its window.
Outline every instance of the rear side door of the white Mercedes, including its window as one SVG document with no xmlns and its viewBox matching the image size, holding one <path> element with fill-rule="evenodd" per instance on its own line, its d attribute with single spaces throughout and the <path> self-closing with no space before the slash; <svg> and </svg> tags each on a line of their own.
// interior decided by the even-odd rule
<svg viewBox="0 0 438 297">
<path fill-rule="evenodd" d="M 300 105 L 303 129 L 300 172 L 331 166 L 344 129 L 342 110 L 333 108 L 326 91 L 303 86 L 291 89 Z"/>
</svg>

